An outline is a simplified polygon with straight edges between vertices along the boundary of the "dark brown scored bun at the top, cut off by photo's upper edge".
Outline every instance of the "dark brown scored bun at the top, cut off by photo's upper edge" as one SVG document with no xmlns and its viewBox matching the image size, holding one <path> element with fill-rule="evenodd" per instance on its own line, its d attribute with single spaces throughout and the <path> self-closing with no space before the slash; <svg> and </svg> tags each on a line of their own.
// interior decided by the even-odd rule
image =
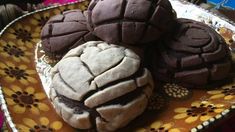
<svg viewBox="0 0 235 132">
<path fill-rule="evenodd" d="M 168 0 L 92 0 L 87 13 L 89 30 L 115 44 L 155 41 L 175 19 Z"/>
</svg>

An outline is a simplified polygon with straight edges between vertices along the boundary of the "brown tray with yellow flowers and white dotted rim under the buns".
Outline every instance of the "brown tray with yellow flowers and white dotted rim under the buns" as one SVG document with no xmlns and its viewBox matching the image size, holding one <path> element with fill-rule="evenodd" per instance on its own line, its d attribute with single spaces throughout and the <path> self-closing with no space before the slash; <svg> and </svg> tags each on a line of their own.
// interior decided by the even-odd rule
<svg viewBox="0 0 235 132">
<path fill-rule="evenodd" d="M 187 2 L 171 0 L 171 3 L 178 17 L 212 26 L 233 51 L 233 23 Z M 78 131 L 56 114 L 45 92 L 48 91 L 45 80 L 37 71 L 35 56 L 43 54 L 37 43 L 41 28 L 50 17 L 65 10 L 85 10 L 88 4 L 84 1 L 36 11 L 15 20 L 0 33 L 0 99 L 12 131 Z M 234 58 L 233 52 L 232 55 Z M 119 131 L 198 131 L 235 113 L 235 83 L 209 91 L 169 83 L 161 87 L 146 112 Z"/>
</svg>

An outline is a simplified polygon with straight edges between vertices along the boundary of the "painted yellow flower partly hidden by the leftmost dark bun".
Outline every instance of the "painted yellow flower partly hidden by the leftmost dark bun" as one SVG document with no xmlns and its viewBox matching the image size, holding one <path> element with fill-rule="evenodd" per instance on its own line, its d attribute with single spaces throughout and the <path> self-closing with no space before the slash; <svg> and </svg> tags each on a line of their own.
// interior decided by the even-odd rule
<svg viewBox="0 0 235 132">
<path fill-rule="evenodd" d="M 46 24 L 49 18 L 50 18 L 49 12 L 43 12 L 41 14 L 39 13 L 34 14 L 33 18 L 30 20 L 30 23 L 36 26 L 34 31 L 40 34 L 42 27 Z"/>
</svg>

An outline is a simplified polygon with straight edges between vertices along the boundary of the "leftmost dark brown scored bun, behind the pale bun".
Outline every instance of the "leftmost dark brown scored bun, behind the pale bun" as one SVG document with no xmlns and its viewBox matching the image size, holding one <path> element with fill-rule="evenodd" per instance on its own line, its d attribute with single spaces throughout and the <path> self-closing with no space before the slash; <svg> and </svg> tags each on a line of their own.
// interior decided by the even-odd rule
<svg viewBox="0 0 235 132">
<path fill-rule="evenodd" d="M 87 29 L 81 10 L 70 10 L 52 17 L 41 32 L 45 54 L 60 59 L 70 49 L 96 38 Z"/>
</svg>

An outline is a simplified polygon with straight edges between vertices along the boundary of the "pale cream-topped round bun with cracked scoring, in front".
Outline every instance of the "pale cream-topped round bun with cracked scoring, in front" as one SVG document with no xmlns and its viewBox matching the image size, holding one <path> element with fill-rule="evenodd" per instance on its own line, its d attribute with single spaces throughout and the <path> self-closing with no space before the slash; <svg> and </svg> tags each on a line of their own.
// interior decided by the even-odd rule
<svg viewBox="0 0 235 132">
<path fill-rule="evenodd" d="M 57 113 L 71 126 L 114 131 L 145 110 L 153 81 L 133 51 L 90 41 L 55 65 L 50 90 Z"/>
</svg>

